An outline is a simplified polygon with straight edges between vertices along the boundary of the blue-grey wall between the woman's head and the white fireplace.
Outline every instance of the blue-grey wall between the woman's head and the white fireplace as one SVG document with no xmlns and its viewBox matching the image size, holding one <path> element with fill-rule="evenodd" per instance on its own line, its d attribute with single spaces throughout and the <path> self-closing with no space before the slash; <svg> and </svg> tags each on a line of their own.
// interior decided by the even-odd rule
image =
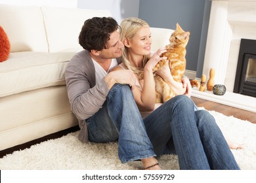
<svg viewBox="0 0 256 183">
<path fill-rule="evenodd" d="M 151 27 L 175 29 L 177 22 L 190 31 L 186 69 L 197 71 L 201 78 L 211 1 L 208 0 L 140 0 L 139 18 Z"/>
</svg>

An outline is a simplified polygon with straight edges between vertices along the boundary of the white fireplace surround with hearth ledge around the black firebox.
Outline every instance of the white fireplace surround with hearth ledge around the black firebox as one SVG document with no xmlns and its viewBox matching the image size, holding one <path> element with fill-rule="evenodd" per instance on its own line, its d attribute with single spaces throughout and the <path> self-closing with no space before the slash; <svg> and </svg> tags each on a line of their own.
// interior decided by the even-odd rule
<svg viewBox="0 0 256 183">
<path fill-rule="evenodd" d="M 215 84 L 224 84 L 227 92 L 219 96 L 193 88 L 192 96 L 256 112 L 256 97 L 233 93 L 241 39 L 256 40 L 256 0 L 213 0 L 203 74 L 208 80 L 214 68 Z"/>
</svg>

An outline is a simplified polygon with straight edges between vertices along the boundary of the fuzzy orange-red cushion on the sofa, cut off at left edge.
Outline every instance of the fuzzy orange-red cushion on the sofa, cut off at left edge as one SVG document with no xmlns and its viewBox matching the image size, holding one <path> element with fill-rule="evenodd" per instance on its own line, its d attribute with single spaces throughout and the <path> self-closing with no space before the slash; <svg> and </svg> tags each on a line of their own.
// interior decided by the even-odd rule
<svg viewBox="0 0 256 183">
<path fill-rule="evenodd" d="M 0 25 L 0 62 L 8 59 L 11 52 L 11 44 L 3 27 Z"/>
</svg>

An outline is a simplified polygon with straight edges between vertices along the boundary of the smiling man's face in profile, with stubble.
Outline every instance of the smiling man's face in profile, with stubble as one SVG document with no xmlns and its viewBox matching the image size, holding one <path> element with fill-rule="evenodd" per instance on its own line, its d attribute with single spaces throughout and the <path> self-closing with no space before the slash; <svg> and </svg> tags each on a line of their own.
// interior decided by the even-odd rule
<svg viewBox="0 0 256 183">
<path fill-rule="evenodd" d="M 123 43 L 120 41 L 120 35 L 118 31 L 114 31 L 110 35 L 110 40 L 108 41 L 108 48 L 100 50 L 100 57 L 105 59 L 119 58 L 121 57 L 121 48 L 123 48 Z"/>
</svg>

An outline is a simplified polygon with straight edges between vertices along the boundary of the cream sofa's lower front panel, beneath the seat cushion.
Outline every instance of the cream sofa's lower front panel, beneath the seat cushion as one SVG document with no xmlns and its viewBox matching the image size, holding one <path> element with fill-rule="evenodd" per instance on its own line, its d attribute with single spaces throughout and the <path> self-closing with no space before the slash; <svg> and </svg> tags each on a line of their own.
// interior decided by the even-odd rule
<svg viewBox="0 0 256 183">
<path fill-rule="evenodd" d="M 0 151 L 78 125 L 66 86 L 0 97 L 0 116 Z"/>
</svg>

